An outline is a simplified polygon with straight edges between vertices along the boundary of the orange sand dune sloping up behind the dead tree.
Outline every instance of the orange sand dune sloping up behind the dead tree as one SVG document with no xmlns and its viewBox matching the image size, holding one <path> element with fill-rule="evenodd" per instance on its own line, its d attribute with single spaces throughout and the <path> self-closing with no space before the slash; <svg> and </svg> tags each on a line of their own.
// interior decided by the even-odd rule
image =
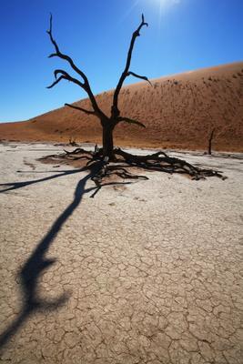
<svg viewBox="0 0 243 364">
<path fill-rule="evenodd" d="M 113 91 L 96 96 L 109 113 Z M 75 103 L 89 107 L 89 100 Z M 121 115 L 147 126 L 119 125 L 115 144 L 134 147 L 207 149 L 215 128 L 213 148 L 243 152 L 243 62 L 216 66 L 147 83 L 125 86 Z M 94 116 L 61 107 L 25 122 L 0 124 L 0 138 L 67 142 L 100 142 L 101 127 Z"/>
</svg>

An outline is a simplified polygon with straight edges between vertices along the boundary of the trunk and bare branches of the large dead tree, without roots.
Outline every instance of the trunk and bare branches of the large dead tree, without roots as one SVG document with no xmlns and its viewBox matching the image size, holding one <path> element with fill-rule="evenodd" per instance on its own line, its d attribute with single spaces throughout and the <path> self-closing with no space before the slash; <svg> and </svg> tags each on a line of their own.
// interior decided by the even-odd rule
<svg viewBox="0 0 243 364">
<path fill-rule="evenodd" d="M 75 108 L 76 110 L 79 110 L 82 113 L 86 113 L 87 115 L 94 115 L 94 116 L 97 117 L 97 119 L 99 119 L 100 124 L 102 126 L 102 130 L 103 130 L 103 137 L 102 137 L 103 157 L 109 157 L 109 160 L 114 159 L 113 131 L 114 131 L 117 124 L 119 124 L 121 122 L 126 122 L 126 123 L 129 123 L 129 124 L 135 124 L 137 126 L 145 127 L 144 124 L 140 123 L 137 120 L 131 119 L 131 118 L 127 117 L 127 116 L 121 116 L 119 106 L 118 106 L 119 94 L 120 94 L 121 88 L 122 88 L 122 86 L 124 84 L 124 81 L 128 76 L 135 76 L 137 78 L 146 80 L 150 84 L 150 82 L 148 81 L 146 76 L 139 76 L 136 73 L 130 71 L 130 64 L 131 64 L 132 53 L 133 53 L 133 48 L 134 48 L 134 45 L 135 45 L 135 41 L 137 39 L 137 36 L 140 35 L 140 31 L 141 31 L 143 26 L 148 26 L 147 23 L 145 22 L 144 15 L 142 15 L 142 21 L 141 21 L 140 25 L 137 27 L 137 30 L 132 35 L 132 39 L 131 39 L 130 46 L 129 46 L 128 53 L 127 53 L 126 66 L 124 68 L 124 71 L 122 72 L 122 75 L 119 78 L 119 81 L 117 83 L 117 86 L 116 86 L 116 89 L 115 89 L 115 92 L 114 92 L 113 103 L 112 103 L 112 106 L 111 106 L 110 115 L 107 116 L 100 109 L 100 107 L 97 105 L 96 97 L 94 96 L 94 94 L 93 94 L 93 92 L 91 90 L 91 87 L 89 85 L 86 74 L 76 66 L 76 64 L 74 63 L 74 61 L 72 60 L 72 58 L 70 56 L 66 56 L 64 53 L 62 53 L 60 51 L 60 48 L 57 45 L 56 40 L 53 37 L 53 33 L 52 33 L 52 15 L 50 15 L 50 28 L 49 28 L 49 30 L 47 30 L 47 34 L 49 35 L 50 40 L 51 40 L 52 44 L 55 47 L 55 53 L 52 53 L 49 57 L 51 58 L 51 57 L 56 56 L 56 57 L 59 57 L 59 58 L 65 60 L 69 64 L 69 66 L 71 66 L 72 69 L 76 72 L 76 75 L 78 76 L 78 78 L 70 76 L 63 69 L 56 69 L 54 71 L 54 76 L 55 76 L 56 79 L 53 82 L 53 84 L 48 86 L 47 88 L 52 88 L 53 86 L 56 86 L 60 81 L 67 80 L 67 81 L 73 82 L 77 86 L 80 86 L 81 88 L 83 88 L 83 90 L 86 91 L 86 94 L 89 97 L 89 100 L 90 100 L 90 103 L 91 103 L 91 106 L 92 106 L 92 110 L 86 110 L 83 107 L 69 105 L 69 104 L 65 104 L 65 105 L 69 106 L 69 107 L 72 107 L 72 108 Z"/>
</svg>

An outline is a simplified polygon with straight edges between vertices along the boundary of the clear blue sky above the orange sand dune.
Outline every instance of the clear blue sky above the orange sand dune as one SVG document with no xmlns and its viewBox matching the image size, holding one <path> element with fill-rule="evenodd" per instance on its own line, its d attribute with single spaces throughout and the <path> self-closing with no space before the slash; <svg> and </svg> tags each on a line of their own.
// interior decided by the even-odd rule
<svg viewBox="0 0 243 364">
<path fill-rule="evenodd" d="M 243 60 L 243 0 L 1 0 L 0 121 L 25 120 L 86 97 L 63 81 L 46 89 L 49 12 L 60 49 L 88 76 L 95 94 L 114 88 L 132 32 L 144 13 L 131 70 L 155 78 Z M 137 79 L 130 77 L 130 83 Z"/>
</svg>

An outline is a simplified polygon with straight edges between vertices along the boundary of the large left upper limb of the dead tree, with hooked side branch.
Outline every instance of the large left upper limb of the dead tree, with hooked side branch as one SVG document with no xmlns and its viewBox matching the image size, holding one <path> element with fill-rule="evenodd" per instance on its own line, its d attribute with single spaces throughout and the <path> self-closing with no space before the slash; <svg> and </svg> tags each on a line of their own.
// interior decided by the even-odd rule
<svg viewBox="0 0 243 364">
<path fill-rule="evenodd" d="M 81 71 L 74 63 L 74 61 L 72 60 L 72 58 L 70 56 L 66 56 L 65 54 L 63 54 L 57 43 L 56 43 L 56 40 L 54 39 L 53 37 L 53 34 L 52 34 L 52 14 L 50 15 L 50 27 L 49 27 L 49 30 L 46 31 L 46 33 L 49 35 L 50 37 L 50 40 L 51 40 L 51 43 L 54 45 L 55 47 L 55 50 L 56 50 L 56 53 L 53 53 L 51 54 L 49 57 L 54 57 L 54 56 L 57 56 L 61 59 L 64 59 L 66 60 L 66 62 L 68 62 L 68 64 L 72 67 L 72 69 L 79 75 L 83 78 L 84 80 L 84 83 L 80 82 L 80 81 L 77 81 L 76 78 L 73 78 L 71 76 L 69 76 L 69 78 L 66 78 L 66 76 L 62 77 L 61 79 L 63 78 L 66 78 L 67 80 L 71 81 L 71 82 L 74 82 L 76 83 L 76 85 L 82 87 L 85 91 L 86 91 L 86 94 L 88 95 L 90 101 L 91 101 L 91 104 L 92 104 L 92 107 L 94 108 L 94 111 L 96 112 L 96 115 L 99 115 L 99 116 L 102 116 L 102 117 L 106 117 L 106 115 L 103 113 L 103 111 L 99 108 L 99 106 L 97 105 L 96 103 L 96 97 L 94 96 L 92 90 L 91 90 L 91 87 L 89 85 L 89 82 L 88 82 L 88 79 L 86 77 L 86 74 Z M 58 70 L 56 70 L 58 71 Z M 65 71 L 63 71 L 65 72 Z M 62 72 L 62 73 L 63 73 Z M 57 72 L 58 73 L 58 72 Z M 59 72 L 60 73 L 60 72 Z M 60 78 L 60 77 L 59 77 Z M 58 82 L 61 80 L 59 79 Z M 74 81 L 75 80 L 75 81 Z M 58 82 L 54 82 L 54 84 L 52 86 L 55 86 Z M 48 87 L 50 88 L 50 87 Z"/>
</svg>

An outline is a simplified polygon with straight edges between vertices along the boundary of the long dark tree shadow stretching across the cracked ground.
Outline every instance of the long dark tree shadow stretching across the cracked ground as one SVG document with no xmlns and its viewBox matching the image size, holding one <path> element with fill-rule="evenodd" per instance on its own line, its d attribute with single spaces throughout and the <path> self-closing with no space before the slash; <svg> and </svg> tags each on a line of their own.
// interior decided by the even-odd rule
<svg viewBox="0 0 243 364">
<path fill-rule="evenodd" d="M 86 169 L 87 168 L 83 168 L 81 170 L 84 171 Z M 95 197 L 97 191 L 100 190 L 100 188 L 102 187 L 117 185 L 117 184 L 125 185 L 131 183 L 131 182 L 110 182 L 110 183 L 104 183 L 96 187 L 86 188 L 87 180 L 96 176 L 97 171 L 100 169 L 100 162 L 97 162 L 92 167 L 89 167 L 89 169 L 90 172 L 86 175 L 86 177 L 83 177 L 77 183 L 73 201 L 66 207 L 66 209 L 61 213 L 61 215 L 57 217 L 52 227 L 46 233 L 46 236 L 38 243 L 37 247 L 32 252 L 30 257 L 25 261 L 24 266 L 18 272 L 17 279 L 20 282 L 23 304 L 20 313 L 18 314 L 18 317 L 5 329 L 5 331 L 2 334 L 0 334 L 0 348 L 5 346 L 5 344 L 9 341 L 9 339 L 11 339 L 15 335 L 16 331 L 21 328 L 25 320 L 28 319 L 36 311 L 55 310 L 56 308 L 65 304 L 66 300 L 69 298 L 70 292 L 64 293 L 60 297 L 52 300 L 40 298 L 38 295 L 38 280 L 41 274 L 47 268 L 50 268 L 53 264 L 55 264 L 56 259 L 46 258 L 46 253 L 50 248 L 51 244 L 53 243 L 54 239 L 56 238 L 58 232 L 66 223 L 68 217 L 72 215 L 72 213 L 76 210 L 76 207 L 78 207 L 78 205 L 82 201 L 84 195 L 86 193 L 94 191 L 91 197 Z M 78 169 L 78 170 L 64 171 L 64 173 L 62 173 L 61 175 L 54 175 L 51 177 L 45 177 L 28 182 L 18 182 L 18 183 L 8 184 L 9 186 L 11 185 L 12 187 L 7 190 L 29 186 L 31 184 L 43 182 L 48 179 L 53 179 L 56 177 L 66 176 L 69 174 L 80 172 L 81 170 Z"/>
</svg>

